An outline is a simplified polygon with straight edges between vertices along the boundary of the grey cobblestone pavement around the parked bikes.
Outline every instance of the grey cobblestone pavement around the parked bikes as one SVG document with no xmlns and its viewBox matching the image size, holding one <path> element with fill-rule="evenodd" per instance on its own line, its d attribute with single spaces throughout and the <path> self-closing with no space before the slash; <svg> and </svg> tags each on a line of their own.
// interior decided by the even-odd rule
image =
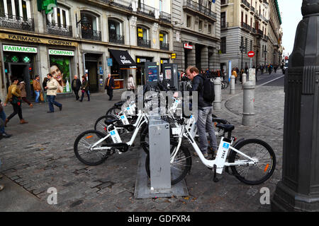
<svg viewBox="0 0 319 226">
<path fill-rule="evenodd" d="M 128 153 L 110 157 L 96 167 L 83 165 L 73 151 L 75 138 L 82 131 L 93 129 L 94 121 L 119 100 L 118 92 L 112 102 L 101 94 L 82 103 L 57 98 L 63 109 L 54 114 L 46 113 L 47 105 L 33 109 L 23 105 L 23 117 L 29 124 L 19 125 L 17 118 L 9 122 L 6 130 L 13 137 L 0 141 L 0 172 L 42 203 L 47 203 L 47 189 L 55 187 L 57 205 L 52 207 L 57 211 L 269 211 L 270 205 L 260 203 L 259 191 L 267 187 L 272 196 L 281 179 L 284 88 L 256 89 L 256 126 L 241 125 L 240 92 L 240 84 L 236 95 L 223 90 L 223 109 L 216 114 L 235 125 L 233 135 L 260 138 L 272 145 L 277 157 L 276 171 L 264 184 L 242 184 L 226 173 L 214 183 L 213 173 L 198 157 L 193 157 L 191 174 L 186 177 L 188 197 L 135 199 L 139 142 Z M 6 114 L 11 110 L 6 107 Z M 1 203 L 0 211 L 4 211 Z"/>
</svg>

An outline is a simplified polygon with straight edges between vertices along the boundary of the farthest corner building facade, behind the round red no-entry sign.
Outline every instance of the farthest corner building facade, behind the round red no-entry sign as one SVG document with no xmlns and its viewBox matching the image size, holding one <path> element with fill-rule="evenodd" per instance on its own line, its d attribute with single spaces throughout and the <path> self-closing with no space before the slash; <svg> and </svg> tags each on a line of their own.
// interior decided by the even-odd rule
<svg viewBox="0 0 319 226">
<path fill-rule="evenodd" d="M 233 68 L 241 69 L 246 66 L 276 64 L 279 61 L 281 41 L 279 42 L 278 34 L 281 31 L 281 22 L 279 23 L 279 8 L 272 7 L 275 2 L 276 0 L 221 0 L 220 66 L 228 69 L 231 61 Z M 271 23 L 272 17 L 276 19 L 276 23 Z M 274 39 L 274 36 L 277 38 Z M 252 59 L 247 55 L 250 51 L 255 54 Z"/>
</svg>

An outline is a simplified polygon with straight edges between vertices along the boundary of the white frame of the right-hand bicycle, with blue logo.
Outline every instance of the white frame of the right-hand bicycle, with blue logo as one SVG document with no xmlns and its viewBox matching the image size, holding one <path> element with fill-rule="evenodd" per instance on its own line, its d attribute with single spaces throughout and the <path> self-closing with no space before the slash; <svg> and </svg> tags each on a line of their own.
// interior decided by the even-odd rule
<svg viewBox="0 0 319 226">
<path fill-rule="evenodd" d="M 197 143 L 194 141 L 194 138 L 191 136 L 191 133 L 189 132 L 188 129 L 186 129 L 185 125 L 181 126 L 181 133 L 179 135 L 179 143 L 177 145 L 177 148 L 173 151 L 171 155 L 171 164 L 174 162 L 174 158 L 177 155 L 177 152 L 179 148 L 181 147 L 181 141 L 182 138 L 185 137 L 189 140 L 191 145 L 193 146 L 194 150 L 196 151 L 198 157 L 201 159 L 201 162 L 203 162 L 203 165 L 206 165 L 206 167 L 209 167 L 213 169 L 213 167 L 216 165 L 216 172 L 218 174 L 223 173 L 223 168 L 224 167 L 229 167 L 229 166 L 239 166 L 239 165 L 256 165 L 258 163 L 258 160 L 254 160 L 252 157 L 245 155 L 244 153 L 240 152 L 240 150 L 237 150 L 236 148 L 233 148 L 231 145 L 233 144 L 233 141 L 231 143 L 228 143 L 224 141 L 224 137 L 221 138 L 220 140 L 220 145 L 218 148 L 218 152 L 216 155 L 215 160 L 206 160 L 206 158 L 203 156 L 203 153 L 201 153 L 201 150 L 198 148 Z M 227 162 L 226 158 L 228 156 L 228 153 L 230 150 L 235 151 L 236 153 L 244 156 L 247 158 L 247 160 L 240 160 L 240 161 L 235 161 L 235 162 Z"/>
</svg>

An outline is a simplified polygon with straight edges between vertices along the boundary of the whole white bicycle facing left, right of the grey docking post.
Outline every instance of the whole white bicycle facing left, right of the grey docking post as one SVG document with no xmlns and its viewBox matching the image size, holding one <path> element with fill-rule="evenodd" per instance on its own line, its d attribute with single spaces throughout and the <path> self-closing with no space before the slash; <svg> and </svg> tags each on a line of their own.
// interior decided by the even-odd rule
<svg viewBox="0 0 319 226">
<path fill-rule="evenodd" d="M 189 124 L 184 124 L 185 119 L 179 122 L 179 138 L 177 142 L 171 141 L 171 182 L 177 184 L 191 170 L 191 154 L 186 146 L 182 145 L 186 138 L 198 154 L 201 162 L 214 172 L 213 180 L 217 182 L 217 174 L 222 174 L 223 169 L 232 169 L 233 175 L 245 184 L 262 184 L 274 173 L 276 167 L 276 156 L 272 147 L 259 139 L 242 139 L 233 145 L 235 138 L 231 136 L 235 126 L 230 124 L 217 124 L 216 127 L 223 129 L 224 133 L 215 160 L 207 160 L 198 148 L 194 137 L 189 131 Z M 176 130 L 175 130 L 176 131 Z M 228 137 L 225 138 L 225 134 Z M 150 177 L 150 155 L 147 155 L 145 167 Z"/>
</svg>

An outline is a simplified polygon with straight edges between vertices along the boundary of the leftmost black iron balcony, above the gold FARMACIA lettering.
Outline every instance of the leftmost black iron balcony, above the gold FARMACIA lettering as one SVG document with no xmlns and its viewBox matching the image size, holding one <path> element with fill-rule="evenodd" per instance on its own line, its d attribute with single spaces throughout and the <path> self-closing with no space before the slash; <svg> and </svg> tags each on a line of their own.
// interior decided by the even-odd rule
<svg viewBox="0 0 319 226">
<path fill-rule="evenodd" d="M 0 27 L 34 31 L 34 19 L 0 13 Z"/>
</svg>

